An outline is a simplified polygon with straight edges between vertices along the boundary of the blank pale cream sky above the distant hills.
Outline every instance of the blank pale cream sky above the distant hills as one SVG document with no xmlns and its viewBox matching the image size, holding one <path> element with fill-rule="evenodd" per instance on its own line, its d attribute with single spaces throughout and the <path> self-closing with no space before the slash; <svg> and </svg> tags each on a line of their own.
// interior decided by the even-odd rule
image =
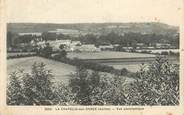
<svg viewBox="0 0 184 115">
<path fill-rule="evenodd" d="M 6 0 L 8 22 L 181 23 L 182 0 Z"/>
</svg>

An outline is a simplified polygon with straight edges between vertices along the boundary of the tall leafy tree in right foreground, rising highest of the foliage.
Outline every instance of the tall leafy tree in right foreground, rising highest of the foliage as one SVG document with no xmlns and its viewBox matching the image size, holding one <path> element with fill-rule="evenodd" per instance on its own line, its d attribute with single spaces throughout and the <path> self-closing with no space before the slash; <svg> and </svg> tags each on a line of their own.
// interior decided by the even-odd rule
<svg viewBox="0 0 184 115">
<path fill-rule="evenodd" d="M 137 73 L 129 85 L 128 105 L 178 105 L 179 68 L 168 59 L 157 57 L 148 70 Z"/>
</svg>

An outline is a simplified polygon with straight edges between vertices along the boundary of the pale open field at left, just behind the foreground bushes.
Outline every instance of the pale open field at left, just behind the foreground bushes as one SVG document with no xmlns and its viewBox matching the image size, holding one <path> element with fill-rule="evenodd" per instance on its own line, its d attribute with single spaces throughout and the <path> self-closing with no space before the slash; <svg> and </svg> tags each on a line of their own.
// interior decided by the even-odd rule
<svg viewBox="0 0 184 115">
<path fill-rule="evenodd" d="M 76 69 L 74 66 L 41 57 L 25 57 L 7 60 L 8 74 L 18 69 L 23 69 L 25 72 L 30 73 L 31 67 L 35 62 L 43 62 L 44 64 L 46 64 L 46 68 L 52 70 L 52 73 L 55 76 L 56 80 L 61 80 L 64 83 L 68 82 L 69 75 L 72 72 L 75 72 Z"/>
</svg>

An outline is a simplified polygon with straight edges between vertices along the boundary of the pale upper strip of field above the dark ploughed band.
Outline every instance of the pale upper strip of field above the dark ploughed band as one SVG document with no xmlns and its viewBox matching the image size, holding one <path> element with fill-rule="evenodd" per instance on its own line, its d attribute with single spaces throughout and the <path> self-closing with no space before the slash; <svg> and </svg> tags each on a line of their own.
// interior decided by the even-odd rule
<svg viewBox="0 0 184 115">
<path fill-rule="evenodd" d="M 142 53 L 128 53 L 128 52 L 114 52 L 114 51 L 101 51 L 101 52 L 71 52 L 67 55 L 69 58 L 79 59 L 111 59 L 111 58 L 146 58 L 155 57 L 152 54 Z"/>
</svg>

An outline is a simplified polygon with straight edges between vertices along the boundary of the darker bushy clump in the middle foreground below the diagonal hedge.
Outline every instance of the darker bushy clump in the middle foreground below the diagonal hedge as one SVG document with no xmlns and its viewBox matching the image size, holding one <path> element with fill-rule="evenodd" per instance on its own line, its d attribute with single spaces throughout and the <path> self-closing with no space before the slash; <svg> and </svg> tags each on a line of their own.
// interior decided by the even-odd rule
<svg viewBox="0 0 184 115">
<path fill-rule="evenodd" d="M 122 77 L 101 76 L 98 72 L 90 74 L 79 67 L 72 75 L 69 86 L 79 105 L 125 105 L 124 82 Z"/>
</svg>

